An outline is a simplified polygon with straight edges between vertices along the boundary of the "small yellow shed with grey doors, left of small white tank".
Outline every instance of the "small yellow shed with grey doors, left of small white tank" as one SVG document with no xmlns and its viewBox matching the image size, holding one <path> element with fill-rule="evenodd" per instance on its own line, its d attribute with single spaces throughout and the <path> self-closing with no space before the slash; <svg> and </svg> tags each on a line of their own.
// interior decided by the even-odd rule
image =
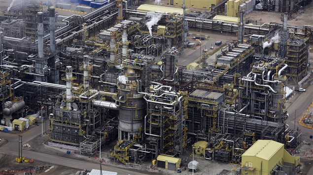
<svg viewBox="0 0 313 175">
<path fill-rule="evenodd" d="M 157 167 L 165 168 L 169 170 L 177 170 L 180 168 L 181 158 L 159 155 L 157 157 Z"/>
</svg>

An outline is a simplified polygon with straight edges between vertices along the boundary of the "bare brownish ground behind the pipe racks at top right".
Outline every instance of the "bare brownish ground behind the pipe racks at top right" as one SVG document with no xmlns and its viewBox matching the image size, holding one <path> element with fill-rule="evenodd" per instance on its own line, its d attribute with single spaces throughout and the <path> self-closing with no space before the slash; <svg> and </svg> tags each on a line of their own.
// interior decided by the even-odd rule
<svg viewBox="0 0 313 175">
<path fill-rule="evenodd" d="M 279 23 L 282 24 L 282 17 L 283 13 L 276 13 L 276 12 L 261 12 L 261 11 L 252 11 L 244 18 L 245 20 L 251 19 L 256 20 L 257 25 L 261 25 L 264 23 Z M 313 4 L 311 3 L 306 7 L 304 13 L 301 14 L 294 14 L 292 19 L 288 20 L 288 25 L 313 25 Z"/>
</svg>

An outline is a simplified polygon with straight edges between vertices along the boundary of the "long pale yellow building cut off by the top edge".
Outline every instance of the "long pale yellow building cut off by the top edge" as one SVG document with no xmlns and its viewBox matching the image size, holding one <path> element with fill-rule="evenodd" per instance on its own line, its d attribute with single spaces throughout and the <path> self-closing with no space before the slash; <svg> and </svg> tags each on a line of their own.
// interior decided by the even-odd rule
<svg viewBox="0 0 313 175">
<path fill-rule="evenodd" d="M 210 10 L 212 4 L 217 5 L 222 0 L 185 0 L 186 8 L 199 8 Z M 169 0 L 170 5 L 182 7 L 183 0 Z"/>
</svg>

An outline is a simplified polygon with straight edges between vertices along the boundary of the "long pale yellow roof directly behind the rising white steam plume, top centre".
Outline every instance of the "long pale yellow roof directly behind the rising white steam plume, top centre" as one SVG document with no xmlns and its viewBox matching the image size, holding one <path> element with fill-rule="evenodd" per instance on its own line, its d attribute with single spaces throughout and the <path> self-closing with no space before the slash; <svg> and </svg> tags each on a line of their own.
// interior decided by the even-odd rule
<svg viewBox="0 0 313 175">
<path fill-rule="evenodd" d="M 151 5 L 151 4 L 142 4 L 137 8 L 138 11 L 155 11 L 161 13 L 179 13 L 182 15 L 183 10 L 182 8 L 174 8 L 174 7 L 166 7 L 166 6 L 159 6 L 159 5 Z M 188 9 L 186 9 L 186 13 L 188 13 Z"/>
</svg>

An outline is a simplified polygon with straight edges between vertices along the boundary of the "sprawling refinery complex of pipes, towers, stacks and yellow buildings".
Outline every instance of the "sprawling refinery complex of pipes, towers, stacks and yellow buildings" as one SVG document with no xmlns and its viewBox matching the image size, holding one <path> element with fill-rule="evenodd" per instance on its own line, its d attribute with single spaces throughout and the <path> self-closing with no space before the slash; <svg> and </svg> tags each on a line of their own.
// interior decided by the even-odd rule
<svg viewBox="0 0 313 175">
<path fill-rule="evenodd" d="M 313 23 L 289 21 L 311 0 L 18 2 L 0 9 L 0 130 L 19 138 L 37 122 L 47 135 L 32 147 L 54 156 L 105 162 L 106 151 L 116 166 L 173 174 L 206 174 L 195 167 L 211 162 L 234 175 L 302 168 L 295 116 L 305 111 L 288 106 L 312 96 Z"/>
</svg>

